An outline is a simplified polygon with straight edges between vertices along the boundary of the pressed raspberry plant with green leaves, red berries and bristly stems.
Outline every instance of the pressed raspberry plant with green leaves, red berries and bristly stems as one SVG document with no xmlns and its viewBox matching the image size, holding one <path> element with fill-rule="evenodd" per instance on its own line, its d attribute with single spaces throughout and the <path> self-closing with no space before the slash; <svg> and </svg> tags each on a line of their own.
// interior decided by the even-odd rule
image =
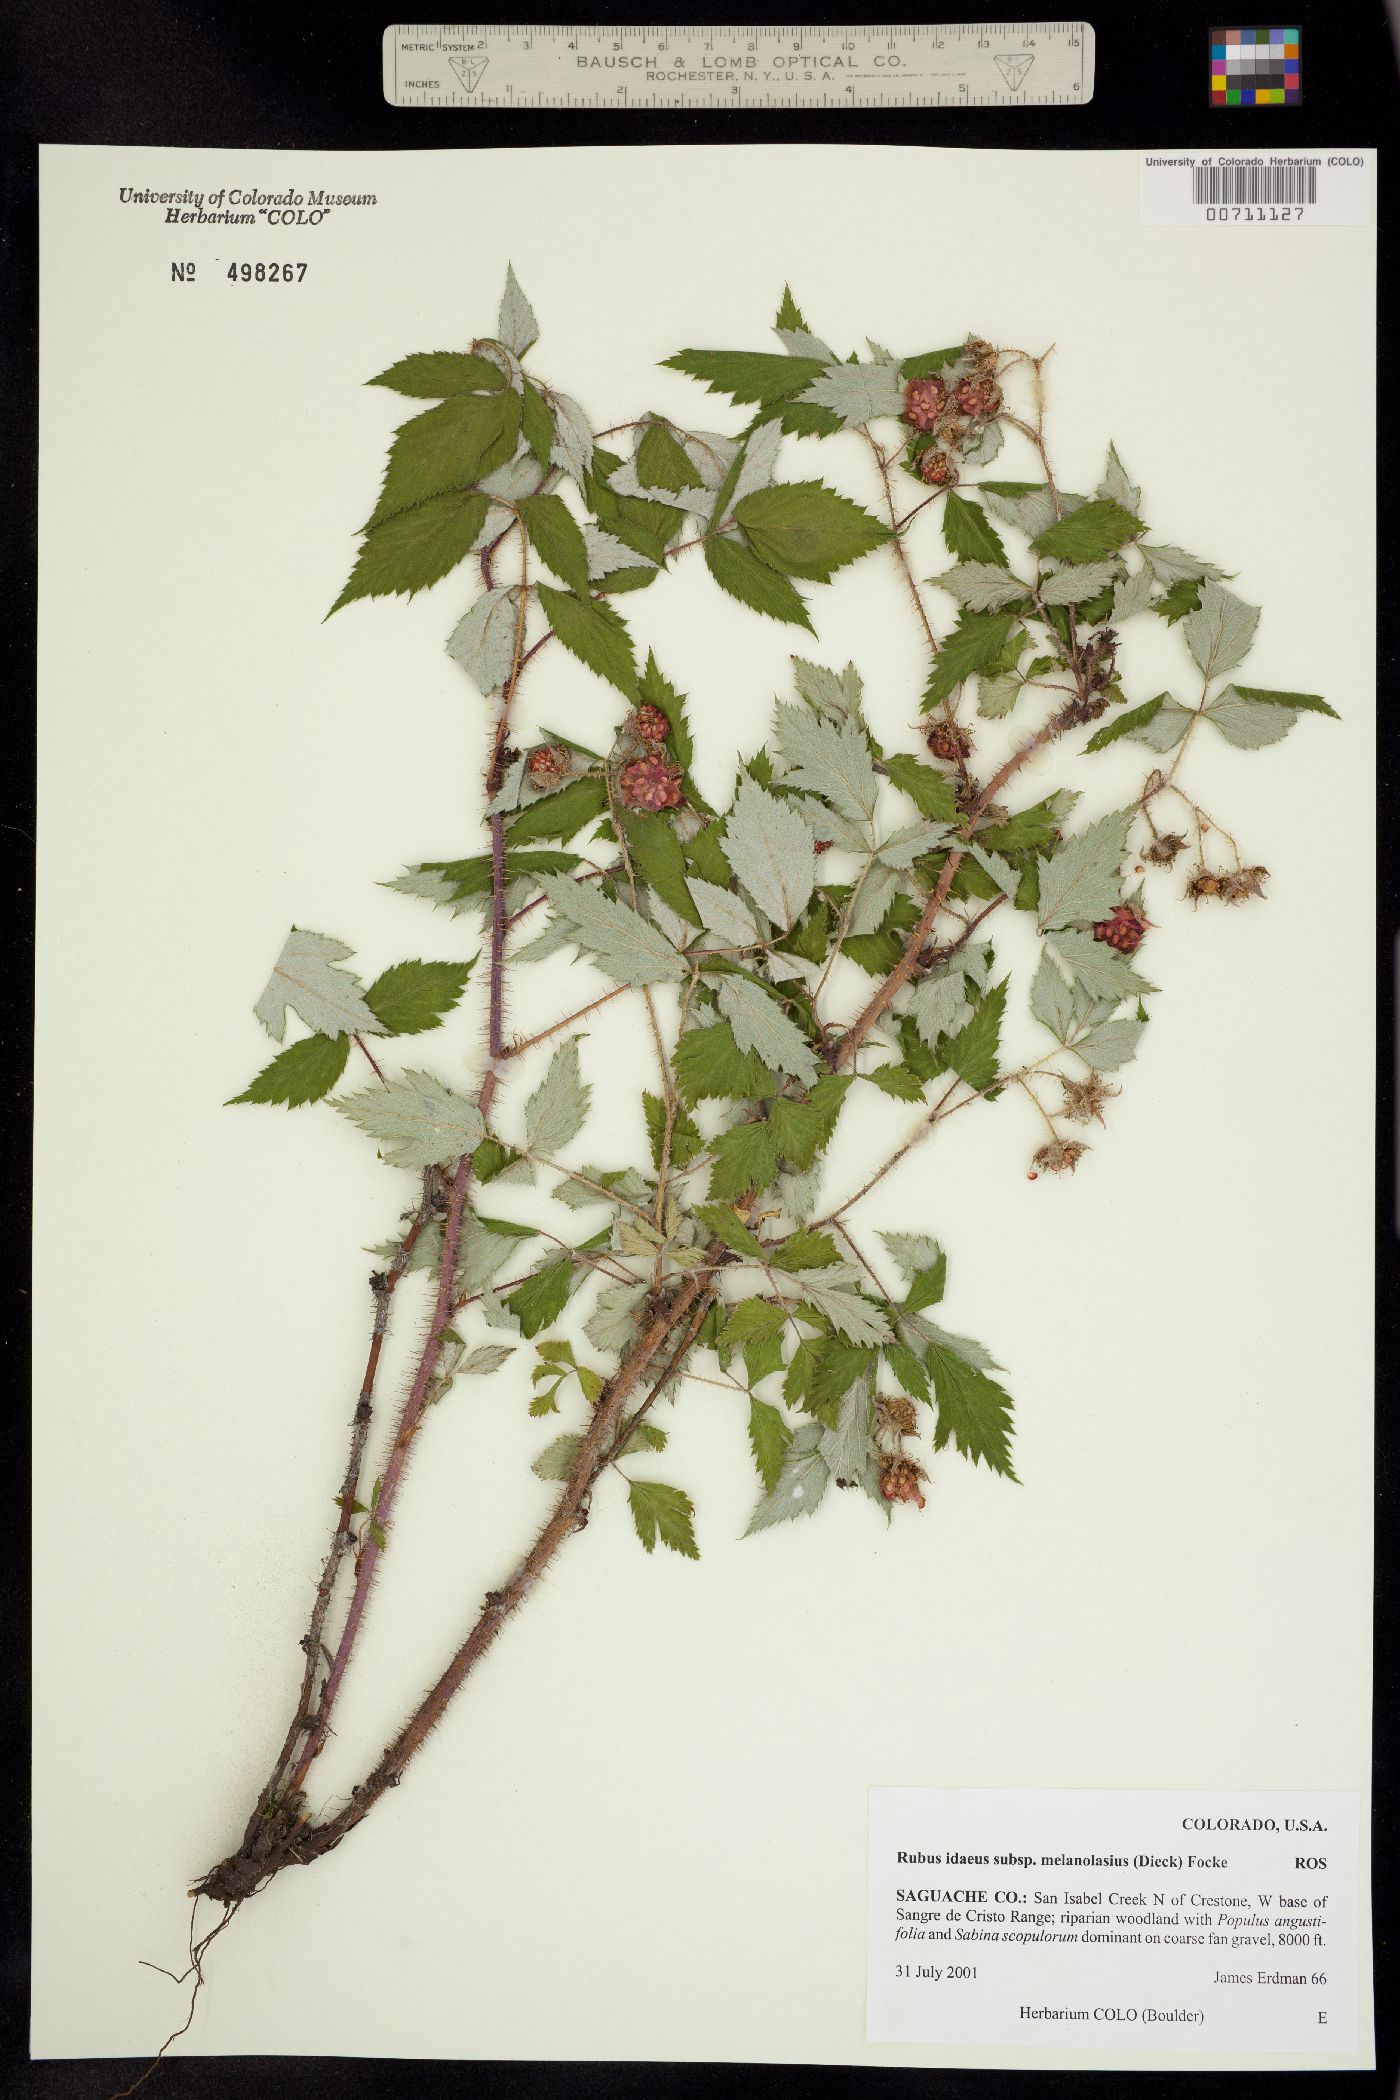
<svg viewBox="0 0 1400 2100">
<path fill-rule="evenodd" d="M 833 1485 L 869 1497 L 871 1520 L 911 1520 L 938 1455 L 1014 1478 L 997 1363 L 934 1319 L 938 1218 L 915 1210 L 907 1231 L 867 1243 L 861 1199 L 966 1111 L 1026 1113 L 1031 1180 L 1079 1168 L 1148 1025 L 1152 918 L 1264 895 L 1268 869 L 1207 815 L 1194 762 L 1209 766 L 1213 739 L 1261 748 L 1301 714 L 1333 714 L 1314 693 L 1234 678 L 1257 609 L 1144 523 L 1117 449 L 1091 494 L 1060 485 L 1041 357 L 978 336 L 844 357 L 785 294 L 775 349 L 670 359 L 739 405 L 735 433 L 642 414 L 594 437 L 535 368 L 535 338 L 510 275 L 491 336 L 374 380 L 420 405 L 334 609 L 453 578 L 447 649 L 481 708 L 487 800 L 474 850 L 393 882 L 405 911 L 445 916 L 447 960 L 365 985 L 346 943 L 294 930 L 256 1006 L 275 1042 L 290 1014 L 298 1033 L 237 1100 L 330 1102 L 388 1163 L 393 1224 L 281 1747 L 241 1840 L 197 1884 L 225 1922 L 399 1785 L 590 1516 L 630 1520 L 646 1552 L 699 1558 L 703 1522 L 665 1478 L 665 1409 L 701 1365 L 743 1396 L 749 1531 L 814 1516 Z M 785 477 L 785 437 L 848 447 L 869 506 Z M 1026 479 L 991 470 L 1003 447 Z M 919 578 L 915 546 L 938 542 L 945 565 Z M 663 668 L 634 649 L 619 607 L 680 561 L 808 636 L 756 756 L 733 750 L 733 710 L 705 697 L 741 672 L 718 680 L 703 662 Z M 856 668 L 821 662 L 819 592 L 802 588 L 858 561 L 898 567 L 926 653 L 907 750 L 875 741 Z M 1163 628 L 1180 640 L 1184 697 L 1129 685 L 1133 632 Z M 617 695 L 604 750 L 533 727 L 560 649 Z M 733 750 L 720 808 L 697 785 L 695 737 Z M 1142 783 L 1077 823 L 1096 754 L 1119 739 L 1146 746 Z M 1064 783 L 1024 804 L 1018 775 L 1049 746 Z M 997 962 L 1012 916 L 1039 941 L 1020 985 Z M 563 956 L 577 987 L 560 1018 L 512 1035 L 512 974 Z M 432 1046 L 403 1037 L 443 1029 L 472 968 L 487 979 L 487 1042 L 466 1046 L 476 1079 L 460 1086 L 432 1069 Z M 1012 995 L 1043 1037 L 1022 1063 L 1001 1054 Z M 596 1084 L 581 1033 L 615 1000 L 634 1002 L 653 1060 L 649 1153 L 567 1161 Z M 523 1142 L 500 1128 L 516 1073 Z M 871 1090 L 909 1107 L 907 1134 L 863 1186 L 831 1186 L 837 1121 L 861 1117 Z M 537 1224 L 495 1216 L 493 1182 L 533 1184 Z M 426 1327 L 384 1415 L 380 1352 L 411 1292 Z M 571 1308 L 575 1294 L 588 1296 Z M 542 1420 L 539 1531 L 468 1623 L 445 1628 L 451 1659 L 344 1806 L 315 1814 L 309 1774 L 393 1562 L 409 1447 L 430 1441 L 453 1386 L 506 1363 L 516 1376 L 489 1392 L 518 1405 L 525 1384 Z M 575 1564 L 584 1579 L 584 1550 Z"/>
</svg>

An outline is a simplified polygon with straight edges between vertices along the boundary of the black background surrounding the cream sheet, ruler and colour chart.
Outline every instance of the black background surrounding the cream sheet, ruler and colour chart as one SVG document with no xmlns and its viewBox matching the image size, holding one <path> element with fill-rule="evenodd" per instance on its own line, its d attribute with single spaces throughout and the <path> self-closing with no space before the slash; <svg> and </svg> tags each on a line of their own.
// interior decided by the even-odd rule
<svg viewBox="0 0 1400 2100">
<path fill-rule="evenodd" d="M 36 470 L 36 353 L 38 353 L 38 143 L 76 145 L 206 145 L 206 147 L 302 147 L 390 151 L 413 147 L 497 147 L 497 145 L 655 145 L 655 143 L 783 143 L 831 141 L 871 145 L 959 145 L 959 147 L 1364 147 L 1383 145 L 1400 118 L 1396 57 L 1381 0 L 1371 4 L 1303 6 L 1289 13 L 1303 34 L 1303 101 L 1291 109 L 1211 109 L 1207 94 L 1207 32 L 1230 17 L 1215 4 L 1209 13 L 1173 0 L 1094 0 L 1068 4 L 1062 15 L 1087 15 L 1098 36 L 1098 78 L 1094 101 L 1083 109 L 938 109 L 938 111 L 754 111 L 754 113 L 638 113 L 594 116 L 546 111 L 390 109 L 380 90 L 380 38 L 390 19 L 390 0 L 369 10 L 357 0 L 342 4 L 260 6 L 170 4 L 99 6 L 97 0 L 31 0 L 0 4 L 0 346 L 4 386 L 0 430 L 4 475 L 4 620 L 0 662 L 4 682 L 4 764 L 0 766 L 0 897 L 8 905 L 4 949 L 4 995 L 0 995 L 0 1140 L 8 1172 L 4 1218 L 8 1245 L 4 1327 L 4 1407 L 19 1424 L 27 1378 L 27 1294 L 25 1222 L 29 1170 L 29 949 L 31 949 L 31 850 L 34 775 L 31 691 L 34 691 L 34 470 Z M 1016 6 L 957 6 L 959 21 L 1014 19 Z M 1031 10 L 1024 10 L 1026 15 Z M 1024 19 L 1024 17 L 1022 17 Z M 1270 19 L 1282 19 L 1280 15 Z M 1400 1846 L 1396 1787 L 1400 1785 L 1400 1701 L 1396 1699 L 1396 1653 L 1387 1640 L 1400 1598 L 1396 1569 L 1396 1476 L 1400 1434 L 1396 1432 L 1390 1367 L 1396 1361 L 1396 1128 L 1394 1086 L 1394 947 L 1400 922 L 1398 855 L 1394 836 L 1394 792 L 1398 739 L 1387 716 L 1396 685 L 1396 533 L 1387 517 L 1387 489 L 1396 483 L 1396 412 L 1392 386 L 1394 271 L 1390 227 L 1396 220 L 1396 160 L 1381 151 L 1379 174 L 1379 487 L 1381 487 L 1381 657 L 1379 657 L 1379 951 L 1377 991 L 1381 1012 L 1379 1147 L 1377 1147 L 1377 1678 L 1375 1678 L 1375 1984 L 1377 2064 L 1375 2073 L 1031 2073 L 1031 2071 L 850 2071 L 850 2068 L 758 2068 L 678 2064 L 455 2064 L 455 2062 L 372 2062 L 359 2058 L 181 2058 L 172 2056 L 143 2087 L 151 2100 L 233 2100 L 233 2096 L 285 2096 L 285 2100 L 359 2100 L 369 2094 L 472 2094 L 476 2100 L 642 2100 L 665 2087 L 674 2100 L 712 2100 L 735 2085 L 762 2090 L 772 2100 L 907 2100 L 934 2090 L 938 2100 L 1018 2100 L 1022 2094 L 1070 2100 L 1119 2100 L 1154 2096 L 1192 2100 L 1230 2096 L 1245 2100 L 1293 2079 L 1306 2096 L 1398 2092 L 1400 2060 Z M 1079 281 L 1104 300 L 1106 330 L 1112 323 L 1110 258 L 1079 254 L 1064 258 Z M 1211 370 L 1226 346 L 1203 344 L 1203 395 Z M 1299 403 L 1299 533 L 1308 531 L 1308 481 L 1327 472 L 1333 443 L 1345 443 L 1345 405 L 1337 407 L 1318 374 L 1318 401 Z M 120 407 L 120 403 L 113 403 Z M 1360 552 L 1360 546 L 1358 546 Z M 1343 609 L 1339 607 L 1339 617 Z M 1327 783 L 1320 783 L 1322 788 Z M 1320 800 L 1324 821 L 1345 821 L 1345 804 Z M 1306 821 L 1299 813 L 1299 821 Z M 1320 853 L 1324 867 L 1324 855 Z M 1322 876 L 1324 878 L 1324 876 Z M 1364 899 L 1335 899 L 1339 920 Z M 1320 964 L 1318 964 L 1320 968 Z M 1299 987 L 1308 979 L 1308 958 L 1299 958 Z M 1320 1012 L 1299 995 L 1299 1012 Z M 1303 1025 L 1303 1023 L 1299 1023 Z M 1327 1044 L 1318 1042 L 1324 1060 Z M 1282 1142 L 1280 1134 L 1280 1142 Z M 71 1191 L 73 1222 L 88 1231 L 88 1195 Z M 1297 1275 L 1278 1279 L 1270 1312 L 1287 1306 L 1293 1289 L 1308 1289 L 1308 1201 L 1299 1189 Z M 1240 1317 L 1255 1317 L 1240 1306 Z M 1327 1436 L 1331 1396 L 1318 1392 L 1318 1430 Z M 23 1537 L 25 1489 L 23 1445 L 10 1434 L 10 1466 L 4 1483 L 4 1525 L 0 1527 L 0 2092 L 36 2100 L 101 2100 L 130 2083 L 141 2068 L 134 2060 L 38 2062 L 27 2058 L 27 1550 Z M 1209 1464 L 1209 1451 L 1201 1453 Z M 1226 1600 L 1222 1598 L 1222 1609 Z M 73 1628 L 76 1648 L 82 1628 Z M 101 1724 L 101 1716 L 94 1716 Z M 141 1814 L 132 1804 L 132 1814 Z M 739 1890 L 741 1896 L 741 1890 Z M 82 1995 L 82 1949 L 88 1926 L 82 1894 L 73 1896 L 71 1959 L 73 1993 Z M 796 1974 L 802 1947 L 775 1947 L 775 1982 Z M 218 1957 L 210 1961 L 218 1989 Z M 160 2043 L 151 2035 L 151 2045 Z M 529 2037 L 523 2035 L 523 2048 Z"/>
</svg>

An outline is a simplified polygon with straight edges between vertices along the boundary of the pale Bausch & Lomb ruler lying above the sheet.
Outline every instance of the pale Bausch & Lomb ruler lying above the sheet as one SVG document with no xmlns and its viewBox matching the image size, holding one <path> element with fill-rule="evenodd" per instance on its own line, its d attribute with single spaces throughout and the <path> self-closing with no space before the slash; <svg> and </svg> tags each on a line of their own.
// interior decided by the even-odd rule
<svg viewBox="0 0 1400 2100">
<path fill-rule="evenodd" d="M 1014 109 L 1087 103 L 1087 21 L 393 23 L 399 109 Z"/>
</svg>

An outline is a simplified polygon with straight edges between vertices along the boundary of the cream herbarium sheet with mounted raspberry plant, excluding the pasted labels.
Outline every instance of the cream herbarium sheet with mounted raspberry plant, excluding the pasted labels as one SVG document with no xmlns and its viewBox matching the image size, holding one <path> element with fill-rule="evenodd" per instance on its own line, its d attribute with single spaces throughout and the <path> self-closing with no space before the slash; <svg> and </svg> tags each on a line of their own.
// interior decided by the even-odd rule
<svg viewBox="0 0 1400 2100">
<path fill-rule="evenodd" d="M 42 279 L 36 2054 L 210 1877 L 178 2050 L 1178 2064 L 869 2041 L 867 1804 L 1364 1840 L 1373 233 L 55 147 Z"/>
</svg>

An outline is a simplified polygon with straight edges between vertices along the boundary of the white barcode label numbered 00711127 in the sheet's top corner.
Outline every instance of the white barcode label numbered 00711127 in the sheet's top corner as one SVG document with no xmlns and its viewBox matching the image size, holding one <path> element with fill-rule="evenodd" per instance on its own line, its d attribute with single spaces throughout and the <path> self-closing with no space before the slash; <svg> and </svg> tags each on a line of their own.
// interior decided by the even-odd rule
<svg viewBox="0 0 1400 2100">
<path fill-rule="evenodd" d="M 1144 227 L 1371 227 L 1375 153 L 1140 153 Z"/>
</svg>

